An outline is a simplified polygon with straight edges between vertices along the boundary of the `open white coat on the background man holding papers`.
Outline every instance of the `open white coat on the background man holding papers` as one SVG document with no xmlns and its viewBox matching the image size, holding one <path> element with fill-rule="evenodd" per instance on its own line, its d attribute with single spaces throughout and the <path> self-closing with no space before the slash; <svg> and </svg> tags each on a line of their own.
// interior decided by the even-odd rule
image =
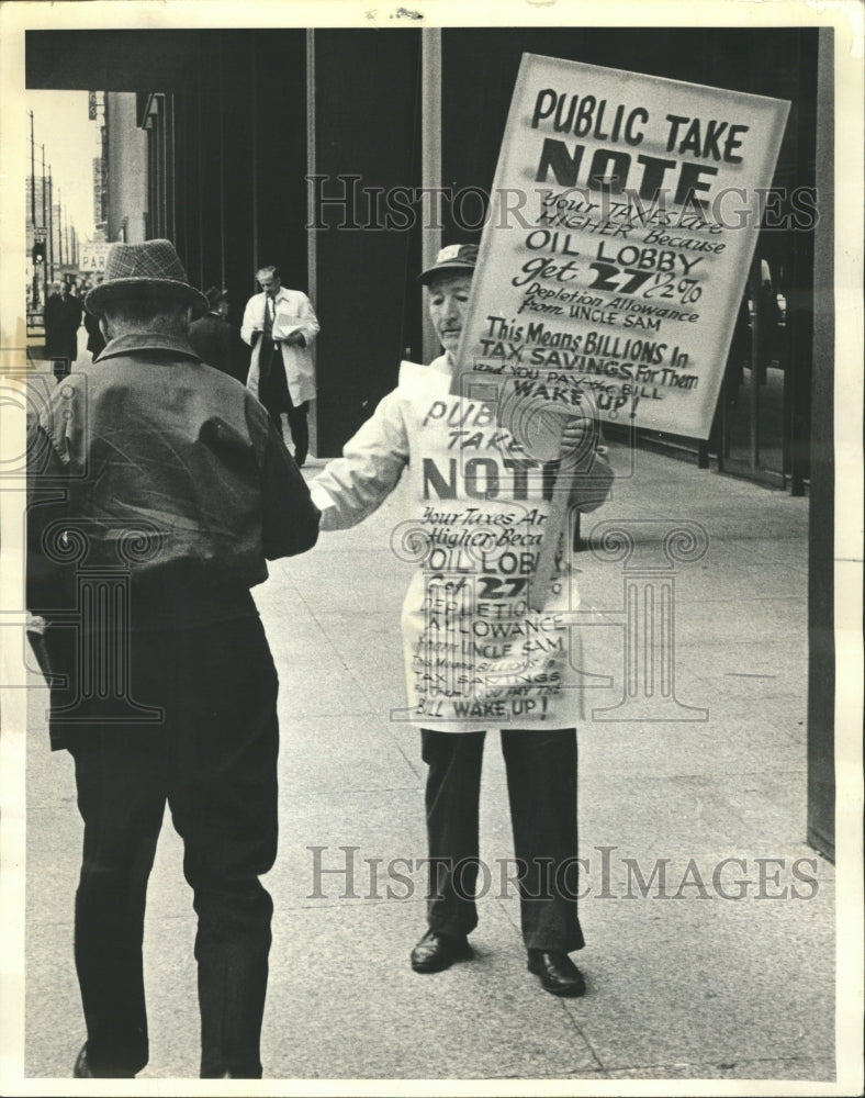
<svg viewBox="0 0 865 1098">
<path fill-rule="evenodd" d="M 249 373 L 246 379 L 247 388 L 258 396 L 258 383 L 260 370 L 258 359 L 261 354 L 261 339 L 254 335 L 256 330 L 265 328 L 265 303 L 266 293 L 257 293 L 250 298 L 244 310 L 244 323 L 240 327 L 240 336 L 244 343 L 252 348 L 252 356 L 249 360 Z M 303 404 L 304 401 L 315 400 L 315 362 L 313 359 L 313 344 L 318 334 L 318 321 L 315 317 L 312 302 L 305 293 L 300 290 L 287 290 L 281 287 L 276 298 L 276 316 L 273 320 L 273 341 L 285 339 L 292 332 L 300 332 L 306 341 L 305 347 L 289 346 L 279 343 L 282 351 L 282 361 L 285 366 L 285 378 L 289 382 L 289 393 L 292 404 Z"/>
</svg>

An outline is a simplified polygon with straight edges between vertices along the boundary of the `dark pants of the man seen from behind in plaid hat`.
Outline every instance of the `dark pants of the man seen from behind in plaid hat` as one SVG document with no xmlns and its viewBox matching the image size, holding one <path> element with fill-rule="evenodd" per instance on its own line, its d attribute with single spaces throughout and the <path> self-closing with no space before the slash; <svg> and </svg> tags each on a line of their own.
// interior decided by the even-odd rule
<svg viewBox="0 0 865 1098">
<path fill-rule="evenodd" d="M 201 1075 L 260 1078 L 277 854 L 278 681 L 257 617 L 133 635 L 131 691 L 156 728 L 76 731 L 85 821 L 75 955 L 88 1061 L 99 1076 L 147 1063 L 142 935 L 165 805 L 184 845 L 198 914 Z"/>
</svg>

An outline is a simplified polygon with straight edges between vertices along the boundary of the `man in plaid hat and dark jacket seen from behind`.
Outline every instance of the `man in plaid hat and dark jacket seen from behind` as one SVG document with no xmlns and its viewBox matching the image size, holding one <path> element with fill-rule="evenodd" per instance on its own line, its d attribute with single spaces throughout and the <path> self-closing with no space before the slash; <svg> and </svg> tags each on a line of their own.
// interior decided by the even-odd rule
<svg viewBox="0 0 865 1098">
<path fill-rule="evenodd" d="M 188 341 L 207 302 L 169 240 L 115 244 L 87 309 L 106 340 L 30 438 L 27 604 L 53 749 L 85 822 L 75 1076 L 148 1060 L 142 938 L 166 802 L 198 912 L 201 1076 L 261 1076 L 277 851 L 277 673 L 249 589 L 318 511 L 261 404 Z"/>
</svg>

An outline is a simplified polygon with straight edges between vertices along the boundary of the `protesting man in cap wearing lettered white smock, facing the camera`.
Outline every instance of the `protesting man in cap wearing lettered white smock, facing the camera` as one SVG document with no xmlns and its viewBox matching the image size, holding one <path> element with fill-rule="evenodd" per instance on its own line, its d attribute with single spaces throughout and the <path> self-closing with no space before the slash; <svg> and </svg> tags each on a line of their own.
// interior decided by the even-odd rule
<svg viewBox="0 0 865 1098">
<path fill-rule="evenodd" d="M 565 616 L 576 605 L 575 582 L 560 551 L 543 609 L 530 608 L 537 557 L 526 547 L 542 541 L 549 469 L 488 407 L 450 391 L 476 258 L 474 245 L 451 245 L 422 272 L 445 354 L 427 367 L 404 362 L 397 388 L 311 488 L 323 530 L 361 522 L 406 471 L 417 502 L 413 533 L 423 559 L 404 604 L 403 640 L 409 709 L 428 766 L 430 886 L 428 929 L 412 967 L 440 972 L 472 956 L 481 763 L 492 724 L 502 729 L 528 968 L 547 991 L 577 996 L 585 983 L 569 953 L 584 944 L 576 912 L 578 668 Z M 461 450 L 459 439 L 470 448 Z M 565 429 L 566 447 L 586 439 L 581 511 L 599 506 L 611 483 L 596 430 L 585 419 Z"/>
</svg>

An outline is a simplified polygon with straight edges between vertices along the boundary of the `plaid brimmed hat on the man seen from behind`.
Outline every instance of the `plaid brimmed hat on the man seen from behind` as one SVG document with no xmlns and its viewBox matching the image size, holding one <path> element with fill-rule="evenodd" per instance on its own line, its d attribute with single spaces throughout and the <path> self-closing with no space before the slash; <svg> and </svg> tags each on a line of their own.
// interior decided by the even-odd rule
<svg viewBox="0 0 865 1098">
<path fill-rule="evenodd" d="M 105 276 L 85 298 L 85 307 L 94 316 L 102 316 L 110 301 L 142 294 L 173 298 L 190 305 L 193 316 L 207 311 L 207 299 L 189 284 L 170 240 L 112 244 L 105 259 Z"/>
</svg>

